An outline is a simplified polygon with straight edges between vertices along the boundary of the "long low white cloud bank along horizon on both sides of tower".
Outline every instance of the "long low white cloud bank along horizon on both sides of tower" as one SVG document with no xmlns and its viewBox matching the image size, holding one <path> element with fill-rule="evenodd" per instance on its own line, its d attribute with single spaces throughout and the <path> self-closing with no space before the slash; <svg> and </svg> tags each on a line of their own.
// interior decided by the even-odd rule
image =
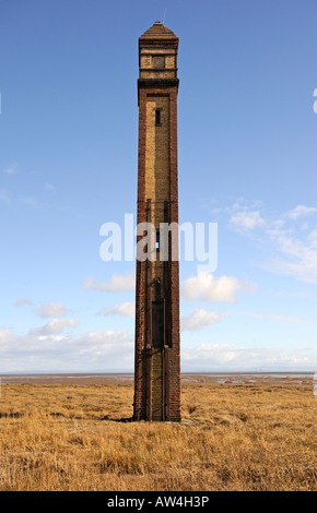
<svg viewBox="0 0 317 513">
<path fill-rule="evenodd" d="M 56 320 L 59 323 L 61 320 Z M 54 329 L 52 329 L 54 327 Z M 80 336 L 56 333 L 61 325 L 16 335 L 0 327 L 1 372 L 109 372 L 133 370 L 133 336 L 128 331 L 91 331 Z M 49 333 L 50 332 L 50 333 Z M 55 332 L 55 333 L 52 333 Z M 316 349 L 287 350 L 234 344 L 181 346 L 181 369 L 230 370 L 259 368 L 312 369 Z"/>
</svg>

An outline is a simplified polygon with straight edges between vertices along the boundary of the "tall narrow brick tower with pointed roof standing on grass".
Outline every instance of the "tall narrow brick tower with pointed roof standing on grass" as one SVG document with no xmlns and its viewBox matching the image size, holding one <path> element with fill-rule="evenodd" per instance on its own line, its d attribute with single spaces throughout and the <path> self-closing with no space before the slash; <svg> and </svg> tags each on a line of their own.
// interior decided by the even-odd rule
<svg viewBox="0 0 317 513">
<path fill-rule="evenodd" d="M 138 225 L 151 223 L 154 237 L 152 256 L 137 259 L 134 420 L 180 420 L 179 265 L 171 232 L 168 256 L 160 259 L 160 224 L 178 224 L 177 48 L 161 22 L 139 38 Z"/>
</svg>

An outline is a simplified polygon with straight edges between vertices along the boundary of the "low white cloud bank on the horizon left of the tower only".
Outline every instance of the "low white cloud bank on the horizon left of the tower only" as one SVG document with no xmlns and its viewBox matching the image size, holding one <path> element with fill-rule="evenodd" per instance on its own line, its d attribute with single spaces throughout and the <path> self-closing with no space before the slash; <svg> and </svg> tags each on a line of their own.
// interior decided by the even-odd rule
<svg viewBox="0 0 317 513">
<path fill-rule="evenodd" d="M 69 320 L 69 325 L 75 324 Z M 63 323 L 63 324 L 61 324 Z M 64 321 L 16 335 L 0 327 L 1 372 L 107 372 L 133 369 L 133 337 L 106 330 L 81 336 L 61 333 Z M 59 333 L 58 333 L 59 332 Z"/>
</svg>

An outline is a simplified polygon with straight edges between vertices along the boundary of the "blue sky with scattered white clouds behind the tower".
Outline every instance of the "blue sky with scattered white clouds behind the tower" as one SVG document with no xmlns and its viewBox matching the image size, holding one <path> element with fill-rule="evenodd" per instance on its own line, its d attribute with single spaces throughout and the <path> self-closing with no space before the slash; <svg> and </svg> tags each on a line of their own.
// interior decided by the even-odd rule
<svg viewBox="0 0 317 513">
<path fill-rule="evenodd" d="M 179 37 L 183 370 L 317 368 L 315 0 L 3 0 L 0 373 L 133 369 L 134 262 L 99 258 L 136 214 L 138 38 Z M 317 110 L 317 109 L 316 109 Z"/>
</svg>

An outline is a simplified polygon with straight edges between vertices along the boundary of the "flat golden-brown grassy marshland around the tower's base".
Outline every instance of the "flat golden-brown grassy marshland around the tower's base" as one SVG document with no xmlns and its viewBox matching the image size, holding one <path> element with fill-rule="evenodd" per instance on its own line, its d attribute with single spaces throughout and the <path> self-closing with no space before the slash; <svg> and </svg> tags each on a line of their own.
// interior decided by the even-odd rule
<svg viewBox="0 0 317 513">
<path fill-rule="evenodd" d="M 181 401 L 130 422 L 131 379 L 4 381 L 0 490 L 317 490 L 312 377 L 187 377 Z"/>
</svg>

